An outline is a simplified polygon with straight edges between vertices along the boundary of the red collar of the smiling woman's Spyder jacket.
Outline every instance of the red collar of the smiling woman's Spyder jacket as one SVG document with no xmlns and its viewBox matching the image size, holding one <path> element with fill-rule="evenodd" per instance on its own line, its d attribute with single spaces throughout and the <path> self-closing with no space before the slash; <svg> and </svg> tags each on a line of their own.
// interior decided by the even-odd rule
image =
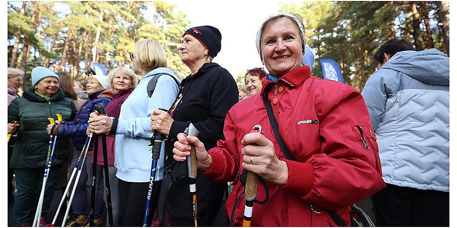
<svg viewBox="0 0 457 228">
<path fill-rule="evenodd" d="M 279 79 L 279 81 L 284 82 L 285 85 L 289 87 L 298 87 L 302 85 L 302 83 L 311 76 L 311 71 L 309 66 L 302 66 L 296 69 L 293 69 L 286 74 L 282 75 Z M 267 86 L 271 83 L 275 83 L 274 81 L 271 81 L 267 79 L 267 77 L 262 79 L 262 90 L 260 90 L 260 95 L 264 95 L 265 89 Z"/>
</svg>

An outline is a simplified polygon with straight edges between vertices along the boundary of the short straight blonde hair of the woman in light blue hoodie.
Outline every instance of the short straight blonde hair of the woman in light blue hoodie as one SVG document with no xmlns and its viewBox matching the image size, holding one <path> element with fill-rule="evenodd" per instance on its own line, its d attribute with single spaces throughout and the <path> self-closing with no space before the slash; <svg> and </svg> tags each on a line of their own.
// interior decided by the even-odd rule
<svg viewBox="0 0 457 228">
<path fill-rule="evenodd" d="M 135 43 L 134 56 L 138 60 L 138 67 L 143 70 L 167 67 L 167 55 L 164 48 L 157 41 L 137 41 Z"/>
</svg>

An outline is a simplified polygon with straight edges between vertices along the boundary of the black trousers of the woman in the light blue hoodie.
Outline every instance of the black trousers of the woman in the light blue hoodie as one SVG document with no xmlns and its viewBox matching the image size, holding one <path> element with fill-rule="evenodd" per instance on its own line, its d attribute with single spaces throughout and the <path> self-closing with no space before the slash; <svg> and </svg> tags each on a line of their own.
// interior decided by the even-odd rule
<svg viewBox="0 0 457 228">
<path fill-rule="evenodd" d="M 142 227 L 146 197 L 149 182 L 127 182 L 119 180 L 119 226 Z M 152 185 L 152 197 L 148 216 L 148 226 L 151 225 L 155 208 L 157 207 L 158 190 L 161 181 Z"/>
</svg>

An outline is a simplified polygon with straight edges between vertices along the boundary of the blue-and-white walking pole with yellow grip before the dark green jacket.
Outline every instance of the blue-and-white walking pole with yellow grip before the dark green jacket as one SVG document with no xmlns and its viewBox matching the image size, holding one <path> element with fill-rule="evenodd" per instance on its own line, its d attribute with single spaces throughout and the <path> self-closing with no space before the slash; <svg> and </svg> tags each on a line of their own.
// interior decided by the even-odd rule
<svg viewBox="0 0 457 228">
<path fill-rule="evenodd" d="M 57 117 L 61 118 L 61 116 L 57 116 Z M 55 124 L 54 118 L 52 118 L 52 117 L 48 118 L 48 121 L 52 125 Z M 51 169 L 52 156 L 54 155 L 56 141 L 57 141 L 57 136 L 53 136 L 51 133 L 49 135 L 48 156 L 46 158 L 46 166 L 45 166 L 45 171 L 44 171 L 44 175 L 43 175 L 43 184 L 41 186 L 40 198 L 38 200 L 37 210 L 35 211 L 35 217 L 34 217 L 34 222 L 32 223 L 32 226 L 39 226 L 39 223 L 40 223 L 41 212 L 43 209 L 44 195 L 45 195 L 45 190 L 46 190 L 46 182 L 48 181 L 48 175 L 49 175 L 49 171 Z"/>
</svg>

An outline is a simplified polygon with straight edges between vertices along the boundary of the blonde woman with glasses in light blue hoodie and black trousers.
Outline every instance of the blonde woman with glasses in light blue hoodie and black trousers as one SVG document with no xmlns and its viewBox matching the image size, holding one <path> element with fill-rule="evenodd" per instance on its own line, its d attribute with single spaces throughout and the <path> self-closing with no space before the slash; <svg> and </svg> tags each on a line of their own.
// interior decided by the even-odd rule
<svg viewBox="0 0 457 228">
<path fill-rule="evenodd" d="M 134 72 L 142 76 L 140 83 L 122 103 L 119 119 L 91 113 L 89 131 L 115 136 L 114 166 L 119 180 L 119 226 L 142 226 L 144 206 L 151 173 L 149 117 L 156 108 L 170 108 L 178 86 L 175 73 L 167 68 L 164 48 L 154 40 L 140 40 L 130 54 Z M 147 86 L 162 75 L 151 97 Z M 174 79 L 175 78 L 175 79 Z M 164 147 L 162 146 L 162 155 Z M 164 175 L 164 156 L 160 156 L 154 180 Z M 152 203 L 155 203 L 152 200 Z M 151 206 L 154 208 L 154 206 Z M 150 213 L 152 214 L 152 213 Z M 152 219 L 152 216 L 149 216 Z"/>
</svg>

